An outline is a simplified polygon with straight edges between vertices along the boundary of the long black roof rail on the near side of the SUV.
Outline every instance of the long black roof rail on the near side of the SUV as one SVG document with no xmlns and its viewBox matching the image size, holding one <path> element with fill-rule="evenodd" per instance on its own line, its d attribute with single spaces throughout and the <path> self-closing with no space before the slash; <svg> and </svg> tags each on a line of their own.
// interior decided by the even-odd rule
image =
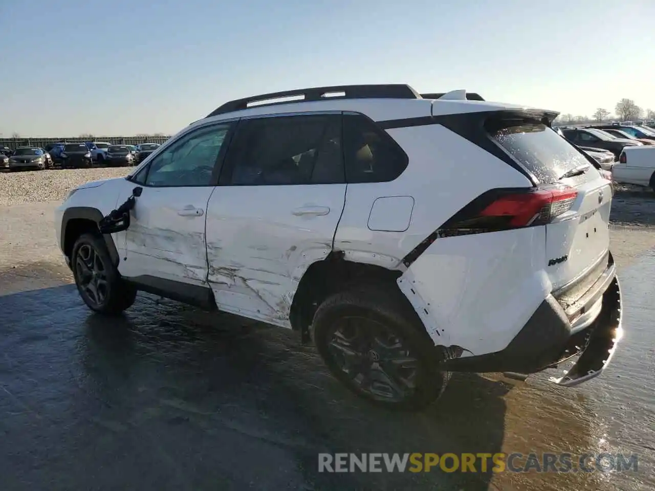
<svg viewBox="0 0 655 491">
<path fill-rule="evenodd" d="M 293 100 L 278 100 L 295 98 Z M 328 87 L 299 88 L 260 94 L 226 102 L 206 117 L 262 105 L 288 104 L 293 102 L 322 101 L 326 99 L 421 99 L 421 95 L 407 84 L 334 85 Z M 256 104 L 255 104 L 256 103 Z"/>
</svg>

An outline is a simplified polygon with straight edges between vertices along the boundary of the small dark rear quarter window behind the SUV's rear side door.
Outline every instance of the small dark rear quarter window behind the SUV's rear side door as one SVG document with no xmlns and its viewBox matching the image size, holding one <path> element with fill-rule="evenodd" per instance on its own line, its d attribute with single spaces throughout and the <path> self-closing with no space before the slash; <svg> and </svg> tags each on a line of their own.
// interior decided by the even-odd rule
<svg viewBox="0 0 655 491">
<path fill-rule="evenodd" d="M 362 115 L 344 115 L 343 145 L 348 183 L 393 181 L 407 168 L 400 146 Z"/>
</svg>

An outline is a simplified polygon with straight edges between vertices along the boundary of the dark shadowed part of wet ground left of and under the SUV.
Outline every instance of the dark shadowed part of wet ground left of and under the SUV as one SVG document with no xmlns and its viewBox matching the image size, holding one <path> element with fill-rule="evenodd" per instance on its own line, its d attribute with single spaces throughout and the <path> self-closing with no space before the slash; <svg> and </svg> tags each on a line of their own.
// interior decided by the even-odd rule
<svg viewBox="0 0 655 491">
<path fill-rule="evenodd" d="M 466 489 L 490 473 L 318 473 L 318 452 L 499 452 L 511 386 L 455 375 L 419 414 L 350 395 L 293 333 L 73 285 L 0 297 L 3 489 Z"/>
</svg>

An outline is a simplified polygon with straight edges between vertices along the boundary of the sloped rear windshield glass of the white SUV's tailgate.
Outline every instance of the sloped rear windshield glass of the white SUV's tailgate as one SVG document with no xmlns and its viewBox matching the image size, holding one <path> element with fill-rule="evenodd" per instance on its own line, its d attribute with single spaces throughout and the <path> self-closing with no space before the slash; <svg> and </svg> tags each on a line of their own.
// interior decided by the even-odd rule
<svg viewBox="0 0 655 491">
<path fill-rule="evenodd" d="M 557 132 L 540 122 L 487 124 L 491 137 L 542 183 L 554 183 L 589 160 Z"/>
</svg>

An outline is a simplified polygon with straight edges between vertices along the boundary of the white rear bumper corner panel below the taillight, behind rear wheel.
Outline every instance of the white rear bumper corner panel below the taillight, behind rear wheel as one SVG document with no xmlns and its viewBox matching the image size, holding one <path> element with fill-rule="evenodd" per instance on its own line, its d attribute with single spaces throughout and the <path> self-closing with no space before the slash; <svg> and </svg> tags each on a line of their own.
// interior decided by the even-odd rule
<svg viewBox="0 0 655 491">
<path fill-rule="evenodd" d="M 437 239 L 398 280 L 435 344 L 505 348 L 548 296 L 545 227 Z M 419 299 L 415 299 L 419 297 Z"/>
</svg>

